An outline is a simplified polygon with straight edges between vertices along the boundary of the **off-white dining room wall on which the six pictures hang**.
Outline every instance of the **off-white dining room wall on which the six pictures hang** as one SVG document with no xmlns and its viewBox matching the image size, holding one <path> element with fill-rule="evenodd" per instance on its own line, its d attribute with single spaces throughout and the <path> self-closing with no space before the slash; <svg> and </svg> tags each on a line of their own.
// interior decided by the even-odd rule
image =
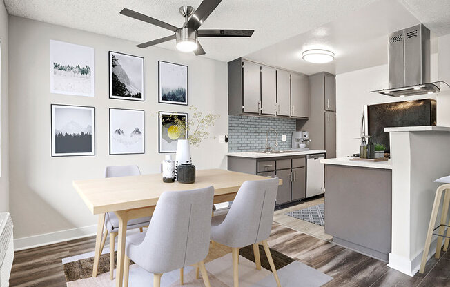
<svg viewBox="0 0 450 287">
<path fill-rule="evenodd" d="M 130 41 L 20 17 L 10 17 L 9 34 L 10 210 L 14 236 L 19 239 L 17 248 L 81 236 L 95 230 L 97 217 L 90 214 L 75 192 L 73 179 L 103 177 L 105 166 L 110 165 L 138 164 L 142 173 L 159 172 L 164 154 L 157 152 L 157 112 L 188 112 L 186 106 L 157 103 L 159 60 L 188 66 L 189 104 L 202 112 L 220 115 L 211 128 L 213 135 L 228 133 L 227 65 L 224 62 L 162 48 L 140 49 Z M 95 48 L 94 98 L 50 94 L 50 39 Z M 152 35 L 143 41 L 150 39 L 153 39 Z M 109 50 L 145 58 L 144 102 L 108 99 Z M 95 156 L 50 156 L 51 103 L 95 106 Z M 108 108 L 146 111 L 145 155 L 108 155 Z M 199 148 L 192 147 L 193 163 L 199 169 L 226 168 L 226 151 L 226 144 L 208 139 Z"/>
</svg>

